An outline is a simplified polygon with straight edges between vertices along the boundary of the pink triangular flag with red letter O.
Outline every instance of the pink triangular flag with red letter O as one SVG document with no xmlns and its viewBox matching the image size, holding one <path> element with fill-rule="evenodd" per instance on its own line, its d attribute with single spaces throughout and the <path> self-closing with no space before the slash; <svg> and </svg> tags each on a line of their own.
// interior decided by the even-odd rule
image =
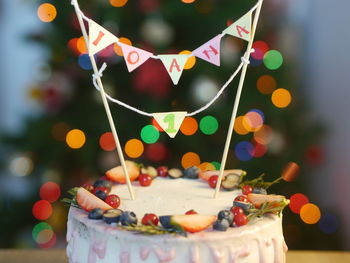
<svg viewBox="0 0 350 263">
<path fill-rule="evenodd" d="M 143 49 L 124 43 L 118 43 L 122 47 L 124 59 L 129 72 L 145 63 L 153 54 Z"/>
</svg>

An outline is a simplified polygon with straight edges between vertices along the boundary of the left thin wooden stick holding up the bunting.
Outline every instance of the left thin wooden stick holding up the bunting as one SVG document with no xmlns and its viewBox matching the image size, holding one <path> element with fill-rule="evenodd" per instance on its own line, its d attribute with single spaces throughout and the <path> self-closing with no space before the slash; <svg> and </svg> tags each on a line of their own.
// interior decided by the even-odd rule
<svg viewBox="0 0 350 263">
<path fill-rule="evenodd" d="M 75 9 L 75 12 L 76 12 L 77 17 L 78 17 L 79 25 L 80 25 L 81 31 L 83 33 L 85 44 L 86 44 L 87 48 L 89 48 L 89 39 L 88 39 L 88 36 L 87 36 L 86 28 L 85 28 L 83 19 L 81 17 L 81 14 L 78 12 L 78 10 L 79 10 L 78 3 L 77 3 L 77 1 L 72 1 L 72 4 L 74 5 L 74 9 Z M 128 170 L 126 168 L 126 164 L 125 164 L 125 160 L 124 160 L 123 151 L 122 151 L 121 146 L 120 146 L 117 130 L 116 130 L 115 125 L 114 125 L 112 113 L 111 113 L 111 110 L 110 110 L 109 105 L 108 105 L 108 101 L 107 101 L 107 98 L 106 98 L 106 93 L 105 93 L 104 88 L 103 88 L 101 77 L 100 77 L 100 74 L 99 74 L 98 69 L 97 69 L 95 57 L 93 55 L 91 55 L 89 57 L 90 57 L 92 68 L 94 70 L 94 74 L 96 76 L 97 84 L 99 86 L 99 90 L 100 90 L 100 93 L 101 93 L 101 98 L 102 98 L 103 105 L 104 105 L 105 110 L 106 110 L 108 122 L 109 122 L 109 125 L 111 127 L 113 138 L 114 138 L 114 141 L 115 141 L 115 144 L 116 144 L 118 157 L 119 157 L 120 163 L 121 163 L 121 165 L 123 167 L 126 183 L 128 185 L 128 190 L 129 190 L 131 199 L 135 200 L 134 190 L 133 190 L 131 182 L 130 182 L 129 173 L 128 173 Z"/>
</svg>

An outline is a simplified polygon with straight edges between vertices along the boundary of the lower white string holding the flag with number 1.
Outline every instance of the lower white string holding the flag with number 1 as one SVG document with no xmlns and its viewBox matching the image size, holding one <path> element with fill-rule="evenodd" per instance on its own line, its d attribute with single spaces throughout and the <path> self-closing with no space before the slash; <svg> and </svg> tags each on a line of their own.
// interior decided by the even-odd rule
<svg viewBox="0 0 350 263">
<path fill-rule="evenodd" d="M 254 49 L 251 50 L 251 53 L 254 52 Z M 190 113 L 187 113 L 186 116 L 187 117 L 190 117 L 190 116 L 194 116 L 194 115 L 197 115 L 199 113 L 201 113 L 202 111 L 205 111 L 206 109 L 208 109 L 220 96 L 221 94 L 225 91 L 225 89 L 228 87 L 228 85 L 230 85 L 230 83 L 233 81 L 233 79 L 237 76 L 237 74 L 239 73 L 239 71 L 242 69 L 243 65 L 244 64 L 250 64 L 249 60 L 245 57 L 241 57 L 241 63 L 240 65 L 238 66 L 238 68 L 236 69 L 236 71 L 230 76 L 230 78 L 225 82 L 225 84 L 221 87 L 221 89 L 219 90 L 219 92 L 215 95 L 214 98 L 212 98 L 207 104 L 205 104 L 203 107 L 199 108 L 198 110 L 196 111 L 193 111 L 193 112 L 190 112 Z M 97 90 L 100 90 L 99 86 L 97 85 L 97 78 L 100 77 L 102 78 L 103 76 L 103 72 L 105 71 L 105 69 L 107 68 L 107 64 L 104 62 L 101 66 L 101 68 L 99 69 L 98 71 L 98 74 L 92 74 L 92 82 L 95 86 L 95 88 Z M 144 116 L 148 116 L 148 117 L 152 117 L 153 114 L 152 113 L 149 113 L 149 112 L 145 112 L 145 111 L 142 111 L 142 110 L 139 110 L 127 103 L 124 103 L 118 99 L 115 99 L 113 97 L 111 97 L 108 93 L 106 93 L 106 97 L 108 98 L 109 101 L 113 102 L 113 103 L 116 103 L 128 110 L 131 110 L 131 111 L 134 111 L 140 115 L 144 115 Z"/>
</svg>

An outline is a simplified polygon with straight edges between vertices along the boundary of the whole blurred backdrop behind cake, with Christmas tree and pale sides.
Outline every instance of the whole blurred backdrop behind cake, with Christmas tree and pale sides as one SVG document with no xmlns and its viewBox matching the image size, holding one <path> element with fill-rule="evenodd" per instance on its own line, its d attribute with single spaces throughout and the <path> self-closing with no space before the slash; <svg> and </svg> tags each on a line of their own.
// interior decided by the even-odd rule
<svg viewBox="0 0 350 263">
<path fill-rule="evenodd" d="M 123 42 L 156 54 L 197 48 L 256 3 L 80 2 Z M 272 189 L 291 198 L 290 249 L 350 249 L 348 10 L 348 0 L 265 0 L 253 45 L 227 167 L 273 180 L 288 162 L 300 166 L 294 182 Z M 118 165 L 114 141 L 70 1 L 0 0 L 0 21 L 0 247 L 63 248 L 67 208 L 59 200 Z M 113 97 L 148 112 L 194 111 L 215 96 L 245 48 L 224 37 L 222 66 L 191 58 L 175 87 L 156 60 L 129 74 L 117 45 L 96 58 L 109 66 L 103 82 Z M 126 158 L 218 169 L 237 82 L 186 119 L 175 139 L 152 119 L 111 105 Z M 150 133 L 142 135 L 144 127 Z"/>
</svg>

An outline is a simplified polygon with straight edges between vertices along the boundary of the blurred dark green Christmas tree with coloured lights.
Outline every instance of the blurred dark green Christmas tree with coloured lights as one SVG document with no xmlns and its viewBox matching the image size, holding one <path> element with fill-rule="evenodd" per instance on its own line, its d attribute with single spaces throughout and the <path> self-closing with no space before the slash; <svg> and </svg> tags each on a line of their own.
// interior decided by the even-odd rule
<svg viewBox="0 0 350 263">
<path fill-rule="evenodd" d="M 38 12 L 39 18 L 51 23 L 43 32 L 30 36 L 50 54 L 41 72 L 45 80 L 33 83 L 29 92 L 30 98 L 40 105 L 42 114 L 28 119 L 19 136 L 3 137 L 4 149 L 20 156 L 9 160 L 11 164 L 17 162 L 17 168 L 23 163 L 27 168 L 28 163 L 33 165 L 33 169 L 23 171 L 18 168 L 15 172 L 30 173 L 30 177 L 35 178 L 33 187 L 36 190 L 26 203 L 14 204 L 11 198 L 3 197 L 4 205 L 0 206 L 0 211 L 7 216 L 0 220 L 2 225 L 6 223 L 11 227 L 2 231 L 1 246 L 14 245 L 13 229 L 20 231 L 38 223 L 30 211 L 39 199 L 37 189 L 43 182 L 57 182 L 64 192 L 103 175 L 118 164 L 101 98 L 92 85 L 91 65 L 84 54 L 86 48 L 74 9 L 68 0 L 50 2 L 52 5 L 44 7 L 41 1 L 35 2 L 42 8 Z M 251 176 L 265 172 L 268 179 L 274 179 L 287 162 L 295 161 L 301 167 L 300 179 L 288 186 L 276 186 L 278 192 L 290 197 L 307 189 L 303 174 L 309 165 L 320 159 L 317 147 L 320 129 L 308 119 L 290 66 L 292 61 L 285 61 L 282 66 L 282 56 L 275 50 L 279 49 L 279 21 L 283 9 L 276 8 L 270 1 L 265 2 L 227 167 L 242 168 Z M 175 54 L 205 43 L 255 3 L 255 0 L 85 0 L 80 5 L 87 16 L 122 38 L 123 42 L 155 54 Z M 54 16 L 56 10 L 57 17 Z M 101 51 L 96 58 L 99 66 L 103 62 L 108 64 L 103 82 L 106 92 L 113 97 L 147 112 L 190 112 L 215 96 L 239 65 L 245 47 L 246 42 L 242 40 L 224 37 L 222 66 L 192 59 L 175 87 L 157 60 L 150 59 L 129 74 L 117 45 Z M 182 160 L 189 156 L 185 154 L 193 152 L 188 162 L 198 162 L 204 169 L 217 166 L 222 157 L 237 82 L 234 81 L 207 111 L 188 119 L 175 139 L 161 133 L 151 144 L 142 142 L 140 136 L 142 128 L 152 124 L 150 118 L 111 105 L 123 148 L 128 142 L 131 145 L 136 142 L 124 151 L 126 157 L 147 165 L 181 167 Z M 209 120 L 218 123 L 217 130 L 205 130 L 206 116 L 212 116 Z M 199 157 L 200 161 L 193 156 Z M 22 158 L 22 162 L 18 163 L 18 158 Z M 208 166 L 208 163 L 212 165 Z M 9 213 L 12 206 L 23 209 Z M 61 206 L 55 203 L 49 223 L 61 238 L 66 222 L 63 214 Z M 317 227 L 306 226 L 289 210 L 285 214 L 290 248 L 322 248 L 320 237 L 325 234 Z M 33 236 L 37 237 L 40 229 L 47 229 L 43 225 L 40 227 L 33 230 Z M 336 236 L 329 237 L 334 239 L 332 248 L 338 248 Z"/>
</svg>

